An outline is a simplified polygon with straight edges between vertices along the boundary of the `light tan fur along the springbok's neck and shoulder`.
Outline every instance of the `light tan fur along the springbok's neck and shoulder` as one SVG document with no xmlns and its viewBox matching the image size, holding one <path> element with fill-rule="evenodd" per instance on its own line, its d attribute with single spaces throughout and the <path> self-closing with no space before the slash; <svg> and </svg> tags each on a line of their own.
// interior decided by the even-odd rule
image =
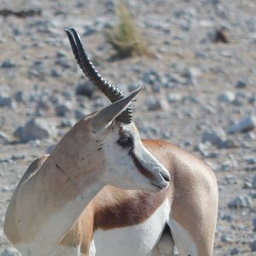
<svg viewBox="0 0 256 256">
<path fill-rule="evenodd" d="M 61 139 L 61 142 L 57 144 L 54 152 L 48 156 L 47 160 L 36 160 L 26 171 L 6 212 L 4 230 L 12 242 L 19 242 L 19 236 L 15 235 L 18 233 L 15 232 L 15 229 L 17 229 L 15 227 L 18 226 L 23 240 L 32 241 L 41 229 L 41 225 L 47 221 L 47 218 L 53 216 L 54 212 L 59 211 L 67 201 L 82 193 L 84 190 L 82 184 L 85 177 L 88 183 L 94 183 L 100 175 L 99 172 L 104 166 L 102 152 L 96 149 L 95 143 L 88 145 L 89 148 L 84 147 L 83 144 L 84 141 L 87 141 L 88 134 L 90 134 L 86 132 L 89 129 L 88 125 L 87 121 L 81 119 Z M 90 144 L 89 139 L 88 143 Z M 80 151 L 76 148 L 80 148 Z M 98 160 L 86 159 L 86 155 L 94 151 Z M 87 164 L 84 169 L 82 163 L 85 160 Z M 37 172 L 38 169 L 39 172 Z M 95 170 L 99 170 L 99 172 L 96 173 Z M 34 173 L 32 176 L 31 172 Z M 86 175 L 84 175 L 85 173 Z M 27 179 L 26 177 L 29 176 L 31 177 Z M 23 186 L 25 183 L 26 186 Z M 36 190 L 34 189 L 35 186 Z M 26 199 L 20 198 L 23 195 L 26 195 Z M 44 203 L 32 203 L 35 200 Z M 20 205 L 20 201 L 22 201 L 22 205 Z M 30 209 L 30 211 L 27 212 L 27 209 Z M 41 212 L 44 212 L 44 214 Z M 30 227 L 30 229 L 27 230 L 26 227 Z"/>
</svg>

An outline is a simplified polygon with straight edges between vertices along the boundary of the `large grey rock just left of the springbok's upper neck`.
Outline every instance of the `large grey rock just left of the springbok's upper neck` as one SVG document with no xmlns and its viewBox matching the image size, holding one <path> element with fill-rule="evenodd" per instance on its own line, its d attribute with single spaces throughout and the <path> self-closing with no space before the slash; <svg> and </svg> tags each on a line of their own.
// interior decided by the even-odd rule
<svg viewBox="0 0 256 256">
<path fill-rule="evenodd" d="M 22 143 L 31 140 L 42 140 L 54 136 L 55 133 L 55 126 L 49 125 L 44 119 L 31 119 L 20 131 L 15 131 L 15 135 L 20 135 Z"/>
</svg>

